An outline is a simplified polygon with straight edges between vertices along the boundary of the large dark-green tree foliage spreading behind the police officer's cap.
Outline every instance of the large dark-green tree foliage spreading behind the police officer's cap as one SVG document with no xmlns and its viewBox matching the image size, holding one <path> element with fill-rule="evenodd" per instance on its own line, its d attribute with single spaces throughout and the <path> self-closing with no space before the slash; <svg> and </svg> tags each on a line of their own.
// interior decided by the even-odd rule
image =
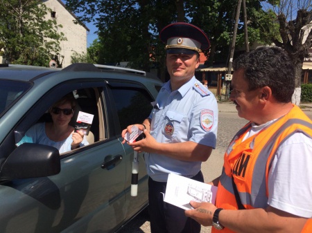
<svg viewBox="0 0 312 233">
<path fill-rule="evenodd" d="M 93 21 L 103 44 L 101 63 L 130 62 L 132 68 L 150 71 L 159 68 L 164 80 L 166 72 L 164 44 L 159 32 L 175 21 L 185 21 L 202 28 L 211 39 L 209 61 L 224 61 L 232 38 L 236 0 L 67 0 L 67 6 L 81 15 L 80 20 Z M 250 0 L 259 8 L 258 0 Z M 249 10 L 249 12 L 252 12 Z M 239 35 L 243 33 L 239 28 Z M 250 41 L 259 39 L 259 31 L 250 26 Z M 238 43 L 242 43 L 242 36 Z M 216 53 L 215 53 L 216 52 Z M 216 54 L 216 57 L 215 57 Z"/>
</svg>

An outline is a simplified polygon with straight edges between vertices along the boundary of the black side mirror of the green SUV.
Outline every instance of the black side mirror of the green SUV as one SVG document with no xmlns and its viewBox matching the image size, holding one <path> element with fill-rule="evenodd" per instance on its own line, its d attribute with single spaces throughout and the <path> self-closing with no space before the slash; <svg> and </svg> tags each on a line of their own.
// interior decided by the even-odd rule
<svg viewBox="0 0 312 233">
<path fill-rule="evenodd" d="M 0 179 L 35 178 L 60 173 L 60 152 L 55 147 L 24 143 L 1 164 Z"/>
</svg>

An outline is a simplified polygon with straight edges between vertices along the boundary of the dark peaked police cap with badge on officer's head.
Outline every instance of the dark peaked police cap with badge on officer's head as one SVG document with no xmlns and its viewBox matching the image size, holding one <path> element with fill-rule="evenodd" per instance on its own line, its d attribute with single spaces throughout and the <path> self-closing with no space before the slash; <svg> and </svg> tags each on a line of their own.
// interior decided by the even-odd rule
<svg viewBox="0 0 312 233">
<path fill-rule="evenodd" d="M 202 50 L 207 50 L 210 47 L 209 39 L 204 31 L 194 26 L 183 22 L 169 24 L 159 33 L 160 39 L 166 44 L 167 53 L 174 51 L 189 51 L 194 50 L 200 53 Z"/>
</svg>

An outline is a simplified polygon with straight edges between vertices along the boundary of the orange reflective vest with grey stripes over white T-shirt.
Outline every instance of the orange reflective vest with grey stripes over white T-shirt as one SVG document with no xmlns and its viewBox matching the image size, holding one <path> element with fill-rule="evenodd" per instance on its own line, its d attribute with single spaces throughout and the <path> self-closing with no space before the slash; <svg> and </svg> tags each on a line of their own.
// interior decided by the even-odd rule
<svg viewBox="0 0 312 233">
<path fill-rule="evenodd" d="M 225 152 L 223 171 L 216 194 L 216 207 L 239 209 L 234 194 L 233 176 L 245 209 L 266 208 L 268 174 L 279 145 L 294 132 L 304 131 L 312 138 L 312 121 L 295 105 L 289 113 L 242 142 L 250 128 L 251 122 L 236 133 Z M 302 232 L 311 232 L 311 227 L 312 221 L 309 219 Z M 220 231 L 212 227 L 212 232 Z M 225 227 L 222 232 L 233 231 Z"/>
</svg>

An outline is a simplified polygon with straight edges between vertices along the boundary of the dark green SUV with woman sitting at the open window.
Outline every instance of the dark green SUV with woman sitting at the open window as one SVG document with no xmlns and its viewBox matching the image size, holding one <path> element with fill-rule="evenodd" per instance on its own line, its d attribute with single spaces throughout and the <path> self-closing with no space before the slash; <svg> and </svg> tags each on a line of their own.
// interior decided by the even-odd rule
<svg viewBox="0 0 312 233">
<path fill-rule="evenodd" d="M 144 153 L 132 197 L 134 151 L 121 143 L 121 131 L 148 117 L 161 86 L 142 71 L 93 64 L 1 66 L 0 232 L 115 232 L 144 209 Z M 94 115 L 89 145 L 61 154 L 46 145 L 17 147 L 33 124 L 51 120 L 47 110 L 67 93 L 76 97 L 76 115 Z"/>
</svg>

